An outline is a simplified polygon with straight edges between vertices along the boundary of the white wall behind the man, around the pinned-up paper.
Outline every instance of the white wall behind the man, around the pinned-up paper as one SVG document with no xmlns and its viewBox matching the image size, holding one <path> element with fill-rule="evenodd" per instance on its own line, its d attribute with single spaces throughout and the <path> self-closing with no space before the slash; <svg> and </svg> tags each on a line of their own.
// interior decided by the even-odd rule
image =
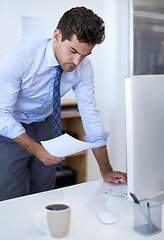
<svg viewBox="0 0 164 240">
<path fill-rule="evenodd" d="M 130 0 L 129 0 L 130 1 Z M 20 42 L 21 15 L 47 16 L 49 36 L 63 12 L 74 6 L 86 6 L 101 16 L 106 24 L 106 39 L 95 47 L 90 59 L 95 73 L 96 102 L 110 131 L 108 143 L 114 169 L 126 170 L 124 77 L 128 75 L 128 0 L 1 0 L 0 58 Z M 68 95 L 72 98 L 72 93 Z M 88 180 L 100 176 L 97 163 L 88 153 Z"/>
</svg>

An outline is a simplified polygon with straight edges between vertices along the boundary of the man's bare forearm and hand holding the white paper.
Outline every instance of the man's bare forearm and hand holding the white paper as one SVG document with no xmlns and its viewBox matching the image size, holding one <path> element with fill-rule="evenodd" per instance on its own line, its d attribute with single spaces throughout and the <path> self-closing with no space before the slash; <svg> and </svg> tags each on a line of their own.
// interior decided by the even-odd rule
<svg viewBox="0 0 164 240">
<path fill-rule="evenodd" d="M 32 140 L 26 133 L 21 134 L 20 136 L 13 139 L 16 143 L 18 143 L 21 147 L 26 149 L 28 152 L 35 155 L 40 161 L 42 161 L 46 166 L 57 164 L 64 160 L 64 158 L 55 157 L 48 153 L 45 148 Z"/>
</svg>

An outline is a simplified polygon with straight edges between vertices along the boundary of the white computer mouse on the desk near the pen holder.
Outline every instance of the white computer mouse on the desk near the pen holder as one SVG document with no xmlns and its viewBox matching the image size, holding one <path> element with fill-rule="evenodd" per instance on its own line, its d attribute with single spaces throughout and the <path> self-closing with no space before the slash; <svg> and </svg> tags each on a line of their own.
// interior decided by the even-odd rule
<svg viewBox="0 0 164 240">
<path fill-rule="evenodd" d="M 116 215 L 112 211 L 99 211 L 97 212 L 97 215 L 104 224 L 112 224 L 117 221 Z"/>
</svg>

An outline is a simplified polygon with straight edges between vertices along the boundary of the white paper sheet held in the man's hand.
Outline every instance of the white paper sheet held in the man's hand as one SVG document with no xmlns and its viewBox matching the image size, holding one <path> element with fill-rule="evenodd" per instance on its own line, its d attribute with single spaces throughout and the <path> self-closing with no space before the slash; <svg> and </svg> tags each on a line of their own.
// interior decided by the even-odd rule
<svg viewBox="0 0 164 240">
<path fill-rule="evenodd" d="M 41 141 L 41 144 L 51 155 L 56 157 L 66 157 L 100 145 L 100 143 L 87 143 L 77 140 L 66 133 L 51 140 Z"/>
</svg>

